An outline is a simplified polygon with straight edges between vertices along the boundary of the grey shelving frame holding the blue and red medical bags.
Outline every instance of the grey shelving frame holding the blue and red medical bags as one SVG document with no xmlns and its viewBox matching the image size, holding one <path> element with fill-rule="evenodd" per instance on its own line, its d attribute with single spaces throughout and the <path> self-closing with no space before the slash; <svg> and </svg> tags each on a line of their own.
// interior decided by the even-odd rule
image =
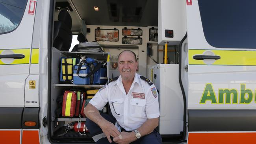
<svg viewBox="0 0 256 144">
<path fill-rule="evenodd" d="M 61 52 L 56 48 L 52 48 L 52 66 L 51 66 L 51 135 L 54 135 L 55 131 L 58 131 L 61 126 L 64 126 L 66 121 L 78 121 L 79 118 L 72 117 L 60 117 L 56 116 L 56 109 L 59 108 L 57 99 L 59 96 L 63 96 L 63 91 L 68 89 L 100 89 L 104 85 L 74 85 L 74 84 L 62 84 L 59 83 L 60 61 L 61 57 L 76 57 L 82 56 L 91 57 L 98 61 L 107 61 L 107 77 L 109 78 L 109 53 L 84 53 L 84 52 Z M 81 118 L 82 121 L 86 121 L 86 118 Z"/>
</svg>

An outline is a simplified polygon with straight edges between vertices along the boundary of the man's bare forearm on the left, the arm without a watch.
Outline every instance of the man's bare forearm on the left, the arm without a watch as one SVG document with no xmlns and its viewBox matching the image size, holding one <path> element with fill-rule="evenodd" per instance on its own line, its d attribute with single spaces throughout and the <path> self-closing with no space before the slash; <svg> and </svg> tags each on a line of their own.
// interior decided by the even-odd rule
<svg viewBox="0 0 256 144">
<path fill-rule="evenodd" d="M 88 103 L 88 105 L 84 109 L 85 116 L 95 122 L 98 126 L 102 126 L 102 123 L 107 121 L 105 118 L 103 118 L 98 109 L 94 107 L 91 103 Z"/>
</svg>

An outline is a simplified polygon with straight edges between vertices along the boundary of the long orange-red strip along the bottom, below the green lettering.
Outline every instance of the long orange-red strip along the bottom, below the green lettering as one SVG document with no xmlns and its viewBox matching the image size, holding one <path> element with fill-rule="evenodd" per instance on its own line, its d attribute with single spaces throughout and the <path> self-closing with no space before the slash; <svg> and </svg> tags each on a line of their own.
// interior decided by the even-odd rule
<svg viewBox="0 0 256 144">
<path fill-rule="evenodd" d="M 188 144 L 251 144 L 256 133 L 189 133 Z"/>
</svg>

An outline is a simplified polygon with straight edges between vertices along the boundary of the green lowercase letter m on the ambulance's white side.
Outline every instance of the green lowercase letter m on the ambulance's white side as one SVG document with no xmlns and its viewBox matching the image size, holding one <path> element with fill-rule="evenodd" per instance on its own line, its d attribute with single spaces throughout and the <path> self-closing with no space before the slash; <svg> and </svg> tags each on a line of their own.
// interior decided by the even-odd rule
<svg viewBox="0 0 256 144">
<path fill-rule="evenodd" d="M 219 89 L 219 103 L 223 103 L 224 95 L 226 96 L 226 102 L 230 103 L 231 94 L 233 96 L 233 103 L 237 103 L 237 90 L 236 89 Z"/>
</svg>

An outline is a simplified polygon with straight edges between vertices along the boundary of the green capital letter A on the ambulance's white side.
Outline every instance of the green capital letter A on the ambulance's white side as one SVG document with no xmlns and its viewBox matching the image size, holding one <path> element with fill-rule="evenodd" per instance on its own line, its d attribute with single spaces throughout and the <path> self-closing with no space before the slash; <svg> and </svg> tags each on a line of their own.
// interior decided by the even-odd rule
<svg viewBox="0 0 256 144">
<path fill-rule="evenodd" d="M 204 92 L 202 94 L 202 98 L 200 100 L 200 103 L 205 103 L 207 100 L 210 100 L 211 103 L 217 103 L 215 92 L 213 90 L 213 87 L 210 83 L 207 83 L 204 87 Z"/>
</svg>

